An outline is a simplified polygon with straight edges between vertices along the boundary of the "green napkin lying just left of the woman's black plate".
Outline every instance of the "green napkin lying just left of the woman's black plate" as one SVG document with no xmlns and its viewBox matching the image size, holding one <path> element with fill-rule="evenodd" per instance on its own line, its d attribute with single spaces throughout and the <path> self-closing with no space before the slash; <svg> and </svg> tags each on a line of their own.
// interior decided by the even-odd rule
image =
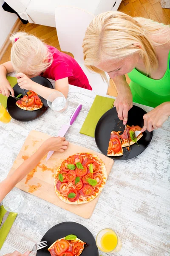
<svg viewBox="0 0 170 256">
<path fill-rule="evenodd" d="M 82 125 L 80 133 L 94 137 L 97 122 L 105 112 L 113 108 L 113 103 L 114 99 L 96 95 L 85 122 Z"/>
</svg>

